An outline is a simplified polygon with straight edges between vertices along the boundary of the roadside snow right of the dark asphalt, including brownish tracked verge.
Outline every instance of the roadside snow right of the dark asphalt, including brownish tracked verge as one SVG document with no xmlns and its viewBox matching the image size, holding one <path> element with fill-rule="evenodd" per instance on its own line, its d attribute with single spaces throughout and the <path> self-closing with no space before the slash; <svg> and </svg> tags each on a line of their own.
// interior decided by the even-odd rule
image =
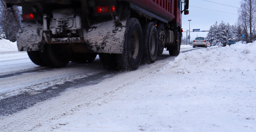
<svg viewBox="0 0 256 132">
<path fill-rule="evenodd" d="M 70 89 L 0 117 L 0 131 L 20 125 L 22 132 L 256 132 L 256 43 L 180 53 L 138 77 L 147 70 Z M 112 91 L 104 92 L 108 88 Z M 44 112 L 46 108 L 51 111 Z M 63 108 L 68 109 L 60 112 Z M 27 122 L 20 122 L 26 117 Z"/>
</svg>

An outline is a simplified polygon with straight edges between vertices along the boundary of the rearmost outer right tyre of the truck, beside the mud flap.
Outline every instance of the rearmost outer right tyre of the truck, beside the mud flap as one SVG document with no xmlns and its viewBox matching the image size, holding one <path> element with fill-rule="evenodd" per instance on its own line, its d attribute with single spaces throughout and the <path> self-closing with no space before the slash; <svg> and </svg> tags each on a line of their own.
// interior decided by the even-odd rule
<svg viewBox="0 0 256 132">
<path fill-rule="evenodd" d="M 115 59 L 120 70 L 136 70 L 140 66 L 143 54 L 143 35 L 140 21 L 130 18 L 124 32 L 124 53 L 116 54 Z"/>
</svg>

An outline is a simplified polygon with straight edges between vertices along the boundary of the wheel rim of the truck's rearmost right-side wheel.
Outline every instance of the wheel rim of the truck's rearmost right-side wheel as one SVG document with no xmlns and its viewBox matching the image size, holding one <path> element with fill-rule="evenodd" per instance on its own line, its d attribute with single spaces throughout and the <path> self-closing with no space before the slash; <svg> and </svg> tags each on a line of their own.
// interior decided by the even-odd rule
<svg viewBox="0 0 256 132">
<path fill-rule="evenodd" d="M 139 35 L 138 35 L 137 31 L 132 32 L 131 43 L 132 43 L 131 44 L 132 58 L 136 59 L 138 57 L 138 54 L 139 54 L 139 45 L 140 45 Z"/>
</svg>

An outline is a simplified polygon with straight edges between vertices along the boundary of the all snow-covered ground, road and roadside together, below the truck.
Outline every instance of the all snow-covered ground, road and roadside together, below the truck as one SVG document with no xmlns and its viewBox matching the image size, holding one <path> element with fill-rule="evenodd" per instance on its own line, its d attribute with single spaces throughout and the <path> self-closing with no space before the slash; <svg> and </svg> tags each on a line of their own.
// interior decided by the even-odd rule
<svg viewBox="0 0 256 132">
<path fill-rule="evenodd" d="M 256 43 L 192 49 L 132 72 L 0 54 L 0 132 L 256 132 Z"/>
</svg>

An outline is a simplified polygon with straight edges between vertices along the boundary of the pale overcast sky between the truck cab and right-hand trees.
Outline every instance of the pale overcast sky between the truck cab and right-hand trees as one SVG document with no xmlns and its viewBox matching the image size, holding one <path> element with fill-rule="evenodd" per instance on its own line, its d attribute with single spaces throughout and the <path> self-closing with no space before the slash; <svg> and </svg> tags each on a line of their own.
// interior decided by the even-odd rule
<svg viewBox="0 0 256 132">
<path fill-rule="evenodd" d="M 241 0 L 189 0 L 189 14 L 183 14 L 182 16 L 183 31 L 189 30 L 188 20 L 192 20 L 190 21 L 190 31 L 193 31 L 193 29 L 200 29 L 201 31 L 209 30 L 210 26 L 215 24 L 216 21 L 220 24 L 222 20 L 230 25 L 236 24 L 240 1 Z M 186 38 L 186 32 L 183 32 L 183 36 Z M 197 36 L 206 37 L 207 32 L 190 32 L 190 36 L 190 40 L 194 40 Z"/>
</svg>

